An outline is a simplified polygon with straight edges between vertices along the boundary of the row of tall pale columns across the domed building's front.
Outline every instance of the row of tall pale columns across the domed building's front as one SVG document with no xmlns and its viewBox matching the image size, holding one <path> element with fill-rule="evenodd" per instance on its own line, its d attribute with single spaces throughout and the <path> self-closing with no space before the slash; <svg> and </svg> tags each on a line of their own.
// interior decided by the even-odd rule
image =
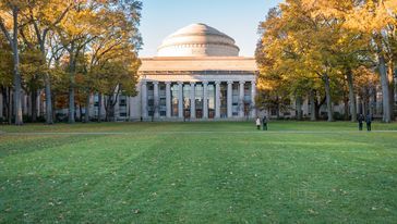
<svg viewBox="0 0 397 224">
<path fill-rule="evenodd" d="M 236 76 L 237 80 L 200 80 L 193 76 L 191 78 L 194 80 L 189 82 L 164 82 L 158 75 L 146 77 L 148 78 L 141 86 L 142 117 L 145 120 L 149 114 L 156 120 L 179 121 L 232 120 L 256 115 L 254 79 L 238 80 L 239 77 Z M 152 94 L 148 92 L 151 88 Z M 148 97 L 153 99 L 152 102 L 147 100 Z"/>
</svg>

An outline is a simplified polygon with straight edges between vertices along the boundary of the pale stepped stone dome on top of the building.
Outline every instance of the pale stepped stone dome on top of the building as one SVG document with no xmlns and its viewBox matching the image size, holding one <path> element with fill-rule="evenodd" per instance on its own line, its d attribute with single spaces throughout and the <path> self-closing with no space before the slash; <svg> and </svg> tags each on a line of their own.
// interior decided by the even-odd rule
<svg viewBox="0 0 397 224">
<path fill-rule="evenodd" d="M 226 34 L 205 24 L 192 24 L 168 36 L 158 57 L 238 57 L 240 49 Z"/>
</svg>

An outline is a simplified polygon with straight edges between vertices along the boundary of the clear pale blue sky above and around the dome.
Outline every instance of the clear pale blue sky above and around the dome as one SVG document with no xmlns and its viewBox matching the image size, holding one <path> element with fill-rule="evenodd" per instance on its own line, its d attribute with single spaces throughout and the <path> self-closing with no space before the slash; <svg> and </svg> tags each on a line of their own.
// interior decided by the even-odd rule
<svg viewBox="0 0 397 224">
<path fill-rule="evenodd" d="M 240 55 L 253 57 L 257 26 L 282 0 L 142 0 L 140 57 L 154 57 L 163 39 L 193 23 L 204 23 L 236 40 Z"/>
</svg>

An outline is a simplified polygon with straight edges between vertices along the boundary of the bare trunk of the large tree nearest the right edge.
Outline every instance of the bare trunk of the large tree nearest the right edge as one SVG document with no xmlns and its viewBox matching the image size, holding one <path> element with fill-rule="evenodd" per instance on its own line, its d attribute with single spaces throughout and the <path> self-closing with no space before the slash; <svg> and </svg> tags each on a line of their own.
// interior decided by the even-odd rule
<svg viewBox="0 0 397 224">
<path fill-rule="evenodd" d="M 390 94 L 389 94 L 389 84 L 388 84 L 388 77 L 387 77 L 387 71 L 386 71 L 386 62 L 385 58 L 382 53 L 378 54 L 380 60 L 380 74 L 381 74 L 381 85 L 382 85 L 382 105 L 383 105 L 383 122 L 390 123 L 392 122 L 392 115 L 390 115 Z"/>
</svg>

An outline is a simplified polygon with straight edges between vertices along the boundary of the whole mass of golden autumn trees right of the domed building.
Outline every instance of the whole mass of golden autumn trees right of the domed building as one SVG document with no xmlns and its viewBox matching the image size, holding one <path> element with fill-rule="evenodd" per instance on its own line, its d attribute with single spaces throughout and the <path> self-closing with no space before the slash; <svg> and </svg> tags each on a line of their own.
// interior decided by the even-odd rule
<svg viewBox="0 0 397 224">
<path fill-rule="evenodd" d="M 390 122 L 396 7 L 396 0 L 286 0 L 272 9 L 260 25 L 256 50 L 260 88 L 265 92 L 260 103 L 274 98 L 308 99 L 312 120 L 324 103 L 328 121 L 334 121 L 333 104 L 342 100 L 356 121 L 357 96 L 363 88 L 374 95 L 380 86 L 383 121 Z M 297 102 L 297 107 L 301 105 Z M 372 112 L 369 108 L 365 113 Z"/>
</svg>

